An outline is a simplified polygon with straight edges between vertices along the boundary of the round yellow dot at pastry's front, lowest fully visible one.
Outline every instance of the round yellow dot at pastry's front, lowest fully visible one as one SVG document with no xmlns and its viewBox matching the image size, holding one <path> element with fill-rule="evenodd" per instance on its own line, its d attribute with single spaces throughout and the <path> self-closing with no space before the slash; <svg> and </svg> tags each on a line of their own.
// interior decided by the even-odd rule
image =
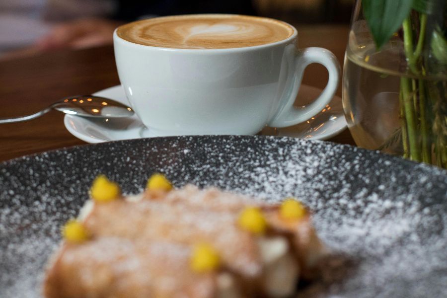
<svg viewBox="0 0 447 298">
<path fill-rule="evenodd" d="M 218 269 L 220 266 L 218 252 L 208 244 L 194 246 L 191 256 L 191 269 L 203 273 Z"/>
</svg>

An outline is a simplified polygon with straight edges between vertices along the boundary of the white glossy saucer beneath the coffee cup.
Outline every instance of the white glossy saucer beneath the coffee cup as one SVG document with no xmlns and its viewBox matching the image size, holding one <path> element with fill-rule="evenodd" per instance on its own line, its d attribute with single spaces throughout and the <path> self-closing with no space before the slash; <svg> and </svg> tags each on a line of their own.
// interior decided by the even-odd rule
<svg viewBox="0 0 447 298">
<path fill-rule="evenodd" d="M 316 98 L 320 89 L 301 85 L 298 92 L 296 106 Z M 94 93 L 93 95 L 108 97 L 129 105 L 121 85 L 113 86 Z M 92 119 L 72 115 L 65 115 L 64 125 L 76 138 L 87 143 L 102 143 L 108 141 L 139 139 L 143 137 L 164 137 L 149 135 L 143 123 L 136 115 L 126 119 Z M 287 136 L 301 139 L 326 140 L 346 128 L 341 98 L 335 96 L 329 105 L 309 121 L 287 128 L 266 127 L 261 135 Z"/>
</svg>

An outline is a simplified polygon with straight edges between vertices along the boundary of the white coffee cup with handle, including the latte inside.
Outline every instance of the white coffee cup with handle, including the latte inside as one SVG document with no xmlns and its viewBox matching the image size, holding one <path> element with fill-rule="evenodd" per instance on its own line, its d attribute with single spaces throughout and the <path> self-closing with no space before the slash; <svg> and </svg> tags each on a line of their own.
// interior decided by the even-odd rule
<svg viewBox="0 0 447 298">
<path fill-rule="evenodd" d="M 264 17 L 196 14 L 157 17 L 113 35 L 119 78 L 143 133 L 253 135 L 266 125 L 303 122 L 332 99 L 340 66 L 323 48 L 298 49 L 297 29 Z M 293 104 L 304 69 L 329 79 L 304 108 Z"/>
</svg>

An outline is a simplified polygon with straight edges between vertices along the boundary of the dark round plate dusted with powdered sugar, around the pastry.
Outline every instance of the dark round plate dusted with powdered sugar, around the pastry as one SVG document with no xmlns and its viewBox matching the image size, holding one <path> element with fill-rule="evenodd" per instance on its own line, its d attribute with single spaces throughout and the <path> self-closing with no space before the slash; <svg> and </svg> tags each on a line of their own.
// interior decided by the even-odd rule
<svg viewBox="0 0 447 298">
<path fill-rule="evenodd" d="M 164 172 L 314 211 L 331 251 L 304 297 L 447 297 L 447 172 L 349 146 L 273 137 L 140 139 L 0 164 L 0 297 L 39 297 L 44 265 L 92 179 L 127 194 Z"/>
</svg>

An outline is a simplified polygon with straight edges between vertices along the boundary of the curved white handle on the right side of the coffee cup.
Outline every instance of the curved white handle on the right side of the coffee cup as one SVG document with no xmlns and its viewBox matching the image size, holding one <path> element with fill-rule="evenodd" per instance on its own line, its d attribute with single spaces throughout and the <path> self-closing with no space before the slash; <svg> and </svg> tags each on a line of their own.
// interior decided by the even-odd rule
<svg viewBox="0 0 447 298">
<path fill-rule="evenodd" d="M 286 51 L 296 51 L 294 58 L 294 82 L 292 83 L 292 90 L 290 90 L 290 92 L 285 92 L 283 98 L 280 99 L 278 112 L 268 124 L 272 127 L 296 125 L 315 116 L 331 101 L 337 90 L 340 77 L 340 64 L 334 54 L 329 50 L 323 48 L 305 48 L 297 50 L 295 46 L 291 45 L 291 47 L 286 48 Z M 293 105 L 298 94 L 299 86 L 301 85 L 304 69 L 312 63 L 319 63 L 327 69 L 329 73 L 327 85 L 313 102 L 306 105 L 303 109 L 296 109 Z"/>
</svg>

